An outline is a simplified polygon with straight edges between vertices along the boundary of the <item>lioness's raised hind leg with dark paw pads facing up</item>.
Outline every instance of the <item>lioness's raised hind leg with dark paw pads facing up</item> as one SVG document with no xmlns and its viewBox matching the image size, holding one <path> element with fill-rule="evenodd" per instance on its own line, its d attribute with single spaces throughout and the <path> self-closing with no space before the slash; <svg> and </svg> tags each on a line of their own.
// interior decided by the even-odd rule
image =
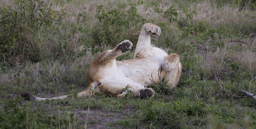
<svg viewBox="0 0 256 129">
<path fill-rule="evenodd" d="M 109 50 L 110 52 L 103 55 L 100 60 L 99 63 L 100 64 L 105 64 L 105 63 L 109 63 L 112 60 L 116 59 L 117 57 L 125 54 L 127 51 L 129 51 L 130 49 L 132 49 L 133 43 L 129 40 L 124 40 L 121 43 L 119 43 L 113 50 Z"/>
</svg>

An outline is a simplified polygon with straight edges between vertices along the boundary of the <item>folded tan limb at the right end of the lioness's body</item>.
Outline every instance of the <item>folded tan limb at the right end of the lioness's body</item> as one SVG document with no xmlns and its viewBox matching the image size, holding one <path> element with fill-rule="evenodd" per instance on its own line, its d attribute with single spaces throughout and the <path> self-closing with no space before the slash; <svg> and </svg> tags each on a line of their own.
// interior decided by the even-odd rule
<svg viewBox="0 0 256 129">
<path fill-rule="evenodd" d="M 164 58 L 162 70 L 165 72 L 164 81 L 168 81 L 167 85 L 174 88 L 180 81 L 182 65 L 180 57 L 177 54 L 170 54 Z"/>
</svg>

